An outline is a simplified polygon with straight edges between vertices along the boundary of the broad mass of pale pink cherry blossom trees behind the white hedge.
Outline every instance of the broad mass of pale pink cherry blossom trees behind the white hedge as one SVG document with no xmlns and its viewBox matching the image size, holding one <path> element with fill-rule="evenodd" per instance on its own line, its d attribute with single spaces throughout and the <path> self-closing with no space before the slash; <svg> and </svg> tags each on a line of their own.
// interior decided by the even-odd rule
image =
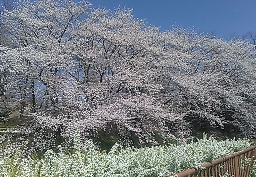
<svg viewBox="0 0 256 177">
<path fill-rule="evenodd" d="M 1 24 L 10 43 L 0 47 L 1 96 L 26 107 L 32 121 L 15 132 L 33 135 L 27 144 L 37 149 L 114 129 L 123 144 L 184 141 L 195 124 L 255 138 L 256 52 L 247 41 L 161 32 L 131 9 L 86 1 L 22 1 Z"/>
</svg>

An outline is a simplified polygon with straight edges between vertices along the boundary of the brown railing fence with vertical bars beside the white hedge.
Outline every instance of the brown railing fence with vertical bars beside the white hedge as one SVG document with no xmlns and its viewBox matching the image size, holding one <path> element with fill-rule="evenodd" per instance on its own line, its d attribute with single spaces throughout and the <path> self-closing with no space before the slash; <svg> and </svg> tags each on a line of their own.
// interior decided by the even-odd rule
<svg viewBox="0 0 256 177">
<path fill-rule="evenodd" d="M 243 160 L 251 159 L 250 163 L 242 168 Z M 233 177 L 250 177 L 252 163 L 256 159 L 256 146 L 249 147 L 237 153 L 221 157 L 202 165 L 204 170 L 191 168 L 178 173 L 178 177 L 219 177 L 228 173 Z"/>
</svg>

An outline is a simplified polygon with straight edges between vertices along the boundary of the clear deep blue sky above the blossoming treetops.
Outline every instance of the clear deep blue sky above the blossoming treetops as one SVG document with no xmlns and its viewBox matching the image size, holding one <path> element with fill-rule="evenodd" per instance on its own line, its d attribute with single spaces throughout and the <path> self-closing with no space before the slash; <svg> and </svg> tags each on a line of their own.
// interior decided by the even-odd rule
<svg viewBox="0 0 256 177">
<path fill-rule="evenodd" d="M 168 30 L 175 23 L 218 37 L 256 32 L 256 0 L 91 0 L 94 7 L 126 6 L 136 18 Z M 198 29 L 199 28 L 199 29 Z"/>
</svg>

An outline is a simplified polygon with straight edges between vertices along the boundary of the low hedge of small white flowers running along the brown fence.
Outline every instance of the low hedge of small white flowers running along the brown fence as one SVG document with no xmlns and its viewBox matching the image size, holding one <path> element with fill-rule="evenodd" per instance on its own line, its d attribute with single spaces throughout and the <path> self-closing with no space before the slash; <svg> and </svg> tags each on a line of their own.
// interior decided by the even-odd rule
<svg viewBox="0 0 256 177">
<path fill-rule="evenodd" d="M 187 168 L 245 149 L 249 140 L 204 138 L 185 145 L 122 148 L 98 151 L 91 141 L 74 153 L 46 151 L 42 159 L 21 151 L 0 158 L 0 177 L 169 177 Z M 76 147 L 80 146 L 79 144 Z M 4 151 L 2 151 L 4 153 Z"/>
</svg>

